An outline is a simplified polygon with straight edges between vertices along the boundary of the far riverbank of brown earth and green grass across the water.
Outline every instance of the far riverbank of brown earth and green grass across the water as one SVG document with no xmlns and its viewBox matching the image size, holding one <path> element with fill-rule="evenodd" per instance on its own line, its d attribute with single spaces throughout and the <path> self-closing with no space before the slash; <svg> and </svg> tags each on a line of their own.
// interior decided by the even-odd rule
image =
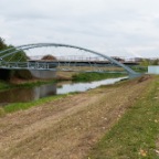
<svg viewBox="0 0 159 159">
<path fill-rule="evenodd" d="M 17 87 L 34 87 L 43 84 L 57 83 L 62 81 L 73 82 L 93 82 L 104 78 L 121 77 L 123 73 L 74 73 L 74 72 L 59 72 L 56 78 L 51 80 L 21 80 L 12 78 L 10 81 L 0 81 L 0 91 L 17 88 Z"/>
</svg>

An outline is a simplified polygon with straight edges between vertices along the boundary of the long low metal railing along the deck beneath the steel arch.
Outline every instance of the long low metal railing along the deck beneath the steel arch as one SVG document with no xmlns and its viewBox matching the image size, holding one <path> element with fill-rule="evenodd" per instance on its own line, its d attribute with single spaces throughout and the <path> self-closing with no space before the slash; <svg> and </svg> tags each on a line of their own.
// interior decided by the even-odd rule
<svg viewBox="0 0 159 159">
<path fill-rule="evenodd" d="M 15 68 L 15 70 L 56 70 L 56 71 L 65 71 L 65 70 L 84 70 L 89 67 L 89 70 L 102 70 L 117 65 L 113 65 L 112 63 L 96 63 L 96 62 L 61 62 L 61 61 L 28 61 L 28 62 L 6 62 L 0 61 L 1 68 Z"/>
</svg>

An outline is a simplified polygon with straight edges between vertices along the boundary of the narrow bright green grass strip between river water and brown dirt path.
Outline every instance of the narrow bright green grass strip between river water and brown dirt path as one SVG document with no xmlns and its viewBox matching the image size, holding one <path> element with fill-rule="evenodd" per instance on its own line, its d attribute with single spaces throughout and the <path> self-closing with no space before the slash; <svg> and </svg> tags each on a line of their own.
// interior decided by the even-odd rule
<svg viewBox="0 0 159 159">
<path fill-rule="evenodd" d="M 14 113 L 14 112 L 18 112 L 18 110 L 24 110 L 24 109 L 29 109 L 31 107 L 34 107 L 34 106 L 39 106 L 39 105 L 42 105 L 44 103 L 47 103 L 47 102 L 51 102 L 51 100 L 56 100 L 56 99 L 60 99 L 60 98 L 63 98 L 63 97 L 66 97 L 67 95 L 56 95 L 56 96 L 51 96 L 51 97 L 45 97 L 45 98 L 41 98 L 41 99 L 38 99 L 38 100 L 34 100 L 34 102 L 29 102 L 29 103 L 14 103 L 14 104 L 10 104 L 10 105 L 7 105 L 4 107 L 1 108 L 1 114 L 8 114 L 8 113 Z"/>
</svg>

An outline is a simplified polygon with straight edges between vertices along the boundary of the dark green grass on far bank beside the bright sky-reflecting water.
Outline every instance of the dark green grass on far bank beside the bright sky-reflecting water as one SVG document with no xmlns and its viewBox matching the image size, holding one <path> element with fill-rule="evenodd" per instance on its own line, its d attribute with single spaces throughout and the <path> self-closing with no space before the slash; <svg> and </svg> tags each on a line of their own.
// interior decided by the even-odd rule
<svg viewBox="0 0 159 159">
<path fill-rule="evenodd" d="M 126 76 L 123 73 L 80 73 L 73 75 L 74 82 L 93 82 L 93 81 L 100 81 L 105 78 L 115 78 Z"/>
</svg>

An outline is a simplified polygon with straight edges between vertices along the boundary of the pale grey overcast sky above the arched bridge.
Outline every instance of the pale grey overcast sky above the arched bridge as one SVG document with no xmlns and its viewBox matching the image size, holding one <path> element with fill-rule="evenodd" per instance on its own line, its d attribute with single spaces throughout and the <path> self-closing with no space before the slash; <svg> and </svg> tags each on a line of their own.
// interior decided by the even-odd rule
<svg viewBox="0 0 159 159">
<path fill-rule="evenodd" d="M 159 0 L 0 0 L 0 36 L 159 57 Z"/>
</svg>

